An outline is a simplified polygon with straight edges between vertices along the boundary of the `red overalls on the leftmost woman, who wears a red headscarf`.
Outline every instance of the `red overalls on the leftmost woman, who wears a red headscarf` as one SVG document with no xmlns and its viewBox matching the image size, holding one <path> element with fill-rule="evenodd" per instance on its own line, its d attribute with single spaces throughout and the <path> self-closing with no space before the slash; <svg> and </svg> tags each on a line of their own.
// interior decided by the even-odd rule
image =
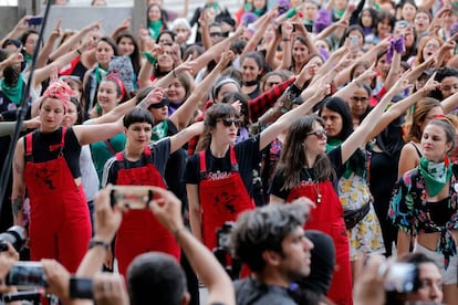
<svg viewBox="0 0 458 305">
<path fill-rule="evenodd" d="M 30 197 L 30 255 L 32 261 L 54 259 L 75 272 L 87 251 L 91 222 L 83 185 L 75 180 L 63 157 L 66 128 L 62 140 L 50 150 L 59 157 L 33 162 L 32 134 L 25 136 L 24 180 Z"/>
</svg>

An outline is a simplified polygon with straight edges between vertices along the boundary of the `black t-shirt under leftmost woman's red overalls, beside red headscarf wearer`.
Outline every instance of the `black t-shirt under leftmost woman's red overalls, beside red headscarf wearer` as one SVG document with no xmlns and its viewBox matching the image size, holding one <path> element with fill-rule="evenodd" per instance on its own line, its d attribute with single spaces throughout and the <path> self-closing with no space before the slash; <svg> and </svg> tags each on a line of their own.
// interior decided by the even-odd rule
<svg viewBox="0 0 458 305">
<path fill-rule="evenodd" d="M 54 160 L 59 157 L 60 149 L 54 149 L 50 151 L 50 146 L 55 146 L 60 144 L 62 140 L 62 127 L 58 130 L 52 133 L 41 133 L 40 130 L 35 130 L 32 134 L 32 158 L 33 162 L 44 162 Z M 27 140 L 24 137 L 24 156 L 27 151 Z M 65 134 L 65 144 L 63 147 L 63 156 L 65 161 L 72 172 L 74 179 L 81 177 L 80 171 L 80 152 L 81 152 L 81 145 L 77 141 L 75 133 L 71 127 L 66 129 Z M 28 159 L 25 158 L 25 161 Z"/>
</svg>

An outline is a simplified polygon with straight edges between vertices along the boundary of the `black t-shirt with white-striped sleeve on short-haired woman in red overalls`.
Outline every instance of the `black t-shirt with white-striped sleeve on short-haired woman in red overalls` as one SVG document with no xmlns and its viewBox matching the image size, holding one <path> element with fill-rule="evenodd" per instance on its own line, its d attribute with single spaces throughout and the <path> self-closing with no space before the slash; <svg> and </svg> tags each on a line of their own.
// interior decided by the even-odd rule
<svg viewBox="0 0 458 305">
<path fill-rule="evenodd" d="M 144 155 L 142 155 L 142 158 L 139 158 L 139 160 L 129 161 L 124 157 L 125 169 L 144 167 L 153 160 L 153 165 L 164 177 L 167 159 L 170 155 L 170 138 L 164 138 L 159 141 L 156 141 L 149 145 L 149 148 L 152 149 L 152 158 L 144 158 Z M 117 172 L 119 169 L 119 162 L 116 161 L 116 157 L 110 158 L 103 169 L 102 186 L 106 186 L 107 183 L 116 185 Z"/>
</svg>

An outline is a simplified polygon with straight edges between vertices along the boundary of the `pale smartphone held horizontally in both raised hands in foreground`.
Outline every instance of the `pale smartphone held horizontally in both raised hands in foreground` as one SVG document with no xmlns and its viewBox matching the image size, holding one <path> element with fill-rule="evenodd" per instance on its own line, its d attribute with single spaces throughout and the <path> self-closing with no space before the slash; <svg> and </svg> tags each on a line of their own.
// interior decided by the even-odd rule
<svg viewBox="0 0 458 305">
<path fill-rule="evenodd" d="M 150 187 L 140 186 L 113 186 L 111 192 L 112 207 L 119 210 L 147 209 L 153 200 L 154 192 Z"/>
</svg>

